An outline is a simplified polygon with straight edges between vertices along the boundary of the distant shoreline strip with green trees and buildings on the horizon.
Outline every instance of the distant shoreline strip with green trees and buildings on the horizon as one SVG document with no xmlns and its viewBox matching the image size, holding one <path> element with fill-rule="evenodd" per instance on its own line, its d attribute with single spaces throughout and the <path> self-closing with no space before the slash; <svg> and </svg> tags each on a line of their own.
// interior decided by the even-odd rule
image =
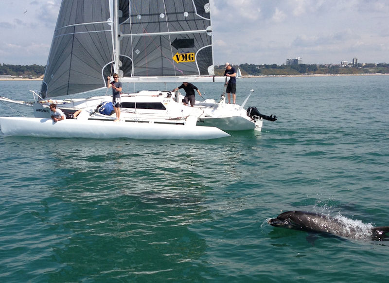
<svg viewBox="0 0 389 283">
<path fill-rule="evenodd" d="M 301 74 L 369 74 L 369 73 L 389 73 L 389 64 L 358 64 L 356 67 L 341 67 L 340 65 L 255 65 L 240 64 L 233 65 L 239 67 L 243 75 L 271 76 L 271 75 L 301 75 Z M 224 65 L 215 66 L 216 75 L 224 75 Z M 0 64 L 0 75 L 11 75 L 18 77 L 40 77 L 45 72 L 45 66 L 39 65 L 9 65 Z"/>
</svg>

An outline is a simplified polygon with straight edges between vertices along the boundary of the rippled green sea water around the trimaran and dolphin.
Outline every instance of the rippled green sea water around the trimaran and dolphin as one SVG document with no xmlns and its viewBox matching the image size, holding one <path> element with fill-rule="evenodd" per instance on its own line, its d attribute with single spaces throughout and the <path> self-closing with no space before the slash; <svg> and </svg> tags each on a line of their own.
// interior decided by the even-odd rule
<svg viewBox="0 0 389 283">
<path fill-rule="evenodd" d="M 389 225 L 388 78 L 238 79 L 237 103 L 254 89 L 245 107 L 278 120 L 211 141 L 0 133 L 0 282 L 388 281 L 389 242 L 266 223 L 304 210 Z M 0 87 L 32 100 L 40 82 Z M 11 106 L 1 116 L 32 116 Z"/>
</svg>

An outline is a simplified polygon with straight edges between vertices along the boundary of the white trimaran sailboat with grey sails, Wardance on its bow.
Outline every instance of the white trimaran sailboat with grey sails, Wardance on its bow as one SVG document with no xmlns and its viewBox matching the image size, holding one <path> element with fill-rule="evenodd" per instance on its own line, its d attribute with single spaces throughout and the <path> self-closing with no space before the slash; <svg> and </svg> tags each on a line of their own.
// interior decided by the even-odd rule
<svg viewBox="0 0 389 283">
<path fill-rule="evenodd" d="M 215 77 L 209 0 L 63 0 L 42 88 L 32 117 L 0 117 L 4 135 L 63 138 L 214 139 L 223 130 L 261 130 L 256 108 L 207 99 L 182 104 L 178 91 L 123 93 L 121 121 L 101 114 L 111 95 L 87 99 L 53 97 L 106 88 L 106 77 L 119 73 L 126 82 L 198 82 Z M 179 84 L 180 84 L 179 83 Z M 109 91 L 111 91 L 109 89 Z M 110 93 L 109 93 L 110 94 Z M 77 119 L 53 122 L 49 104 L 64 112 L 82 109 Z"/>
</svg>

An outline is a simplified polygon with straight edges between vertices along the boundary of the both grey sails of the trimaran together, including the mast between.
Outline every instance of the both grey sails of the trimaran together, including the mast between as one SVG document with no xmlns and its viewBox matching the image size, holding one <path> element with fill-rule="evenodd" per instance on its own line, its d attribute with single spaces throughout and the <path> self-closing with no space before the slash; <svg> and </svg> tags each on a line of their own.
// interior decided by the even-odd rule
<svg viewBox="0 0 389 283">
<path fill-rule="evenodd" d="M 212 76 L 209 0 L 63 0 L 41 88 L 55 97 L 125 78 Z"/>
</svg>

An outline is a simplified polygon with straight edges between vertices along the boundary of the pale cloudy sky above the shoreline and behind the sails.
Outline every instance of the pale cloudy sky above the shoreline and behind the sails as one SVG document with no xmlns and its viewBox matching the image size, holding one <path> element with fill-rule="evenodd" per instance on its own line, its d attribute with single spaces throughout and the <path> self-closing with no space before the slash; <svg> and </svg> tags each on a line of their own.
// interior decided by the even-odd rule
<svg viewBox="0 0 389 283">
<path fill-rule="evenodd" d="M 60 0 L 0 0 L 0 64 L 46 65 Z M 4 8 L 5 7 L 5 8 Z M 211 0 L 215 65 L 389 63 L 389 0 Z"/>
</svg>

